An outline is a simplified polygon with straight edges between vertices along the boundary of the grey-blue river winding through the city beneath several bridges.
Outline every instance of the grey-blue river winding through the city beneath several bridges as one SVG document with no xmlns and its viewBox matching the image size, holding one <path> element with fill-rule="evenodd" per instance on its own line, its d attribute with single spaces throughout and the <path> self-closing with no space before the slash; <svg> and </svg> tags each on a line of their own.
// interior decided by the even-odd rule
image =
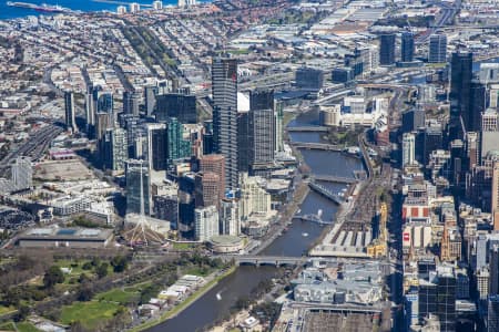
<svg viewBox="0 0 499 332">
<path fill-rule="evenodd" d="M 318 114 L 308 112 L 297 116 L 289 126 L 318 125 Z M 319 133 L 291 133 L 289 138 L 294 142 L 324 142 Z M 338 152 L 308 151 L 303 149 L 302 155 L 305 163 L 310 167 L 312 174 L 336 175 L 353 177 L 354 170 L 363 169 L 361 160 L 353 158 Z M 340 191 L 344 185 L 322 183 L 332 191 Z M 334 220 L 337 206 L 314 193 L 307 195 L 303 201 L 301 214 L 317 214 L 323 210 L 324 220 Z M 323 226 L 309 221 L 294 220 L 288 230 L 277 238 L 271 246 L 265 248 L 261 255 L 272 256 L 302 256 L 324 230 Z M 220 319 L 235 303 L 237 298 L 247 295 L 264 279 L 272 278 L 276 272 L 272 267 L 240 267 L 232 276 L 221 281 L 214 289 L 185 309 L 177 317 L 167 320 L 149 331 L 196 331 Z M 221 292 L 222 300 L 216 299 Z"/>
</svg>

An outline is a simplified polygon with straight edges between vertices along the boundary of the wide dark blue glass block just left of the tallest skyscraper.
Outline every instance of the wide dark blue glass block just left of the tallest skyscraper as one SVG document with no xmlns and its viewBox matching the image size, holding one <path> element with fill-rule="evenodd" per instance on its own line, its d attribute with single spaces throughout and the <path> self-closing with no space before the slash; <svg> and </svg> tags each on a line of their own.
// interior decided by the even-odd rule
<svg viewBox="0 0 499 332">
<path fill-rule="evenodd" d="M 180 123 L 196 123 L 196 97 L 194 95 L 169 93 L 156 96 L 155 116 L 157 122 L 175 117 Z"/>
</svg>

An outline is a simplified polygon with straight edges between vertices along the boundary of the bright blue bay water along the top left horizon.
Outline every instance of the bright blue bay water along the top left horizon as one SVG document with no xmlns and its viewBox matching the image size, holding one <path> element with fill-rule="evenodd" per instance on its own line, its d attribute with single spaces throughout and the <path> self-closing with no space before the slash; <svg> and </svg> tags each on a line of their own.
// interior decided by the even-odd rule
<svg viewBox="0 0 499 332">
<path fill-rule="evenodd" d="M 34 3 L 34 4 L 51 4 L 51 6 L 61 6 L 64 8 L 69 8 L 72 10 L 80 10 L 80 11 L 112 11 L 116 12 L 116 8 L 120 4 L 116 3 L 104 3 L 104 2 L 95 2 L 91 0 L 12 0 L 12 2 L 27 2 L 27 3 Z M 153 0 L 118 0 L 118 2 L 123 3 L 132 3 L 138 2 L 141 4 L 152 4 Z M 167 4 L 176 4 L 177 0 L 163 0 L 163 6 Z M 146 8 L 145 8 L 146 9 Z M 24 18 L 28 15 L 39 15 L 39 14 L 47 14 L 41 13 L 32 9 L 28 8 L 19 8 L 19 7 L 10 7 L 7 6 L 6 0 L 0 0 L 0 20 L 8 20 L 8 19 L 17 19 L 17 18 Z"/>
</svg>

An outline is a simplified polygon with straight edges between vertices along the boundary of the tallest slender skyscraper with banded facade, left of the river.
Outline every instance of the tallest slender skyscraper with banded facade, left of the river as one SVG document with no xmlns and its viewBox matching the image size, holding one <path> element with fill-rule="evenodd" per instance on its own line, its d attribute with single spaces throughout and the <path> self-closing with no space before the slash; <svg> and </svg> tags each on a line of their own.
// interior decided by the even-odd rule
<svg viewBox="0 0 499 332">
<path fill-rule="evenodd" d="M 225 185 L 237 188 L 237 60 L 212 62 L 213 144 L 225 157 Z"/>
</svg>

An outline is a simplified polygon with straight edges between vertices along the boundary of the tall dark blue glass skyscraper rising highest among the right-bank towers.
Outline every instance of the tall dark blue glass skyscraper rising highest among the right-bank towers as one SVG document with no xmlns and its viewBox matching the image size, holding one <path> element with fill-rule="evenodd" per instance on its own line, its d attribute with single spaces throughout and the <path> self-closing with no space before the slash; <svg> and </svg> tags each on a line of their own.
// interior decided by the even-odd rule
<svg viewBox="0 0 499 332">
<path fill-rule="evenodd" d="M 472 53 L 452 53 L 450 62 L 450 139 L 460 138 L 452 135 L 456 133 L 451 131 L 459 131 L 459 117 L 462 117 L 465 128 L 470 131 L 472 62 Z"/>
</svg>

